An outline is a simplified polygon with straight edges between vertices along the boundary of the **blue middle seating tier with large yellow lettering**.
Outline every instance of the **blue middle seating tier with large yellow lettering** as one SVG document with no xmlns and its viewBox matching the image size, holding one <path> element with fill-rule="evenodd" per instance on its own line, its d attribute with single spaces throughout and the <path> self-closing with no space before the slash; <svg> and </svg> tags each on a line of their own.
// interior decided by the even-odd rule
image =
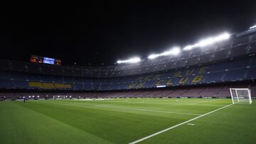
<svg viewBox="0 0 256 144">
<path fill-rule="evenodd" d="M 240 82 L 256 77 L 256 56 L 243 57 L 208 65 L 183 67 L 176 70 L 137 74 L 126 77 L 85 78 L 56 76 L 53 74 L 33 74 L 0 70 L 2 89 L 73 89 L 73 90 L 114 90 L 172 87 L 218 82 Z M 177 92 L 174 92 L 176 96 Z M 178 95 L 200 94 L 189 90 Z M 143 96 L 139 94 L 139 96 Z"/>
</svg>

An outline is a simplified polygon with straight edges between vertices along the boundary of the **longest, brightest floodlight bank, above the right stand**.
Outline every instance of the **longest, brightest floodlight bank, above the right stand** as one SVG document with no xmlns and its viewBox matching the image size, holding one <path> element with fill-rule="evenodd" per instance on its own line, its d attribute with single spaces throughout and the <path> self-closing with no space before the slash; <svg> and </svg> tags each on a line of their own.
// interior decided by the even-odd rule
<svg viewBox="0 0 256 144">
<path fill-rule="evenodd" d="M 183 48 L 183 50 L 192 50 L 193 48 L 199 48 L 199 47 L 205 47 L 208 45 L 213 45 L 214 43 L 218 43 L 220 41 L 223 40 L 228 40 L 230 38 L 230 34 L 229 33 L 222 33 L 220 35 L 217 35 L 215 37 L 210 37 L 210 38 L 206 38 L 203 40 L 200 40 L 198 43 L 194 44 L 194 45 L 188 45 L 185 48 Z"/>
</svg>

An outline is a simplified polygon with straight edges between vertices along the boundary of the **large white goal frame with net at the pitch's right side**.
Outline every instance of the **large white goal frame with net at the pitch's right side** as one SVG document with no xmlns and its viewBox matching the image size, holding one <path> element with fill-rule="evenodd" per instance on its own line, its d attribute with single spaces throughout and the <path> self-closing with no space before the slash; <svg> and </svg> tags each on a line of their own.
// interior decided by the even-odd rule
<svg viewBox="0 0 256 144">
<path fill-rule="evenodd" d="M 245 103 L 245 104 L 252 104 L 250 89 L 230 88 L 230 95 L 231 95 L 233 104 L 238 102 Z"/>
</svg>

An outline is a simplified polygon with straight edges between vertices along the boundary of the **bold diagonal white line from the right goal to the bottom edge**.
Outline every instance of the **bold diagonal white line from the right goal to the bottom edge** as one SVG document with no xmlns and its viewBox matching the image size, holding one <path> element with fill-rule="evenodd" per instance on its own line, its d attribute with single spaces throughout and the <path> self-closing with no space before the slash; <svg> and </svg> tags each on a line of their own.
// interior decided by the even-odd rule
<svg viewBox="0 0 256 144">
<path fill-rule="evenodd" d="M 184 121 L 183 123 L 179 123 L 179 124 L 177 124 L 177 125 L 175 125 L 175 126 L 171 126 L 171 127 L 166 128 L 166 129 L 164 129 L 164 130 L 162 130 L 162 131 L 159 131 L 159 132 L 157 132 L 157 133 L 153 133 L 153 134 L 151 134 L 151 135 L 149 135 L 149 136 L 146 136 L 146 137 L 144 137 L 144 138 L 141 138 L 141 139 L 139 139 L 139 140 L 135 140 L 134 142 L 129 143 L 129 144 L 139 143 L 139 142 L 141 142 L 141 141 L 143 141 L 143 140 L 146 140 L 146 139 L 148 139 L 148 138 L 154 137 L 154 136 L 156 136 L 156 135 L 159 135 L 159 134 L 161 134 L 161 133 L 164 133 L 164 132 L 166 132 L 166 131 L 169 131 L 169 130 L 171 130 L 171 129 L 173 129 L 173 128 L 176 128 L 176 127 L 178 127 L 178 126 L 181 126 L 181 125 L 183 125 L 183 124 L 185 124 L 185 123 L 194 121 L 194 120 L 196 120 L 196 119 L 198 119 L 198 118 L 201 118 L 201 117 L 203 117 L 203 116 L 206 116 L 206 115 L 208 115 L 208 114 L 210 114 L 210 113 L 214 113 L 215 111 L 219 111 L 220 109 L 225 109 L 226 107 L 232 106 L 232 105 L 233 105 L 233 104 L 229 104 L 229 105 L 223 106 L 223 107 L 221 107 L 221 108 L 219 108 L 219 109 L 215 109 L 214 111 L 210 111 L 210 112 L 205 113 L 205 114 L 203 114 L 203 115 L 201 115 L 201 116 L 197 116 L 196 118 L 192 118 L 192 119 L 190 119 L 190 120 L 188 120 L 188 121 Z"/>
</svg>

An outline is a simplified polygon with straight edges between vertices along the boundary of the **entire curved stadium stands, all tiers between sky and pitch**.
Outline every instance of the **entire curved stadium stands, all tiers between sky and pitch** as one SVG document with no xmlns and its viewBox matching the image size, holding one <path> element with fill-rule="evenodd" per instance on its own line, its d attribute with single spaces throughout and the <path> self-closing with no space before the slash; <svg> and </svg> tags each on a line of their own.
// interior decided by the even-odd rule
<svg viewBox="0 0 256 144">
<path fill-rule="evenodd" d="M 255 79 L 255 29 L 206 48 L 134 64 L 76 67 L 0 61 L 4 95 L 28 90 L 30 94 L 43 91 L 43 96 L 57 91 L 82 97 L 225 97 L 230 96 L 228 88 L 235 86 L 250 87 L 255 96 Z"/>
</svg>

